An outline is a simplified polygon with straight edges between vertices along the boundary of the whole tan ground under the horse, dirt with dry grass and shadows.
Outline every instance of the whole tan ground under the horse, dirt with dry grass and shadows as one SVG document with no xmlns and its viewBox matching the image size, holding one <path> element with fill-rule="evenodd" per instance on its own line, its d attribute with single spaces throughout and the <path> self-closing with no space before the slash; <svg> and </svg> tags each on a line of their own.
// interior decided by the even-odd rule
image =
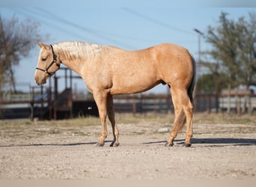
<svg viewBox="0 0 256 187">
<path fill-rule="evenodd" d="M 195 115 L 192 147 L 180 132 L 165 147 L 172 119 L 118 115 L 120 147 L 95 147 L 93 117 L 0 121 L 0 179 L 255 179 L 255 117 Z M 184 130 L 183 130 L 184 131 Z"/>
</svg>

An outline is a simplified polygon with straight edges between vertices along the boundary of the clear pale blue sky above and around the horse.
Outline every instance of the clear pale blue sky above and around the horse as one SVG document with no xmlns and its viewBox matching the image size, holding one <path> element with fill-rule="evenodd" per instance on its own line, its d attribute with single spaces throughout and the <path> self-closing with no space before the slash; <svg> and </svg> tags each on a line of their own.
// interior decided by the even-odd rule
<svg viewBox="0 0 256 187">
<path fill-rule="evenodd" d="M 65 5 L 58 5 L 62 1 L 54 1 L 43 7 L 40 6 L 42 2 L 33 4 L 31 1 L 30 6 L 25 6 L 29 4 L 28 0 L 20 2 L 22 4 L 10 0 L 1 2 L 1 18 L 10 19 L 14 15 L 20 20 L 26 18 L 34 20 L 40 24 L 40 34 L 44 36 L 44 43 L 81 40 L 134 50 L 168 42 L 186 47 L 196 59 L 198 34 L 193 31 L 194 28 L 205 33 L 209 25 L 217 24 L 222 11 L 228 13 L 230 19 L 248 16 L 249 12 L 256 11 L 255 7 L 238 7 L 239 4 L 235 4 L 234 7 L 231 7 L 231 4 L 224 4 L 220 7 L 221 4 L 207 6 L 207 4 L 192 4 L 192 1 L 186 1 L 187 4 L 173 4 L 171 1 L 161 0 L 129 1 L 129 3 L 67 1 Z M 201 49 L 209 48 L 210 46 L 201 40 Z M 16 82 L 22 83 L 24 87 L 35 85 L 34 70 L 39 49 L 39 46 L 35 46 L 28 58 L 22 59 L 15 70 Z M 73 83 L 75 82 L 79 91 L 85 91 L 82 80 L 76 79 Z M 64 81 L 61 81 L 59 90 L 61 91 L 63 87 Z M 165 93 L 166 89 L 159 85 L 150 92 Z"/>
</svg>

